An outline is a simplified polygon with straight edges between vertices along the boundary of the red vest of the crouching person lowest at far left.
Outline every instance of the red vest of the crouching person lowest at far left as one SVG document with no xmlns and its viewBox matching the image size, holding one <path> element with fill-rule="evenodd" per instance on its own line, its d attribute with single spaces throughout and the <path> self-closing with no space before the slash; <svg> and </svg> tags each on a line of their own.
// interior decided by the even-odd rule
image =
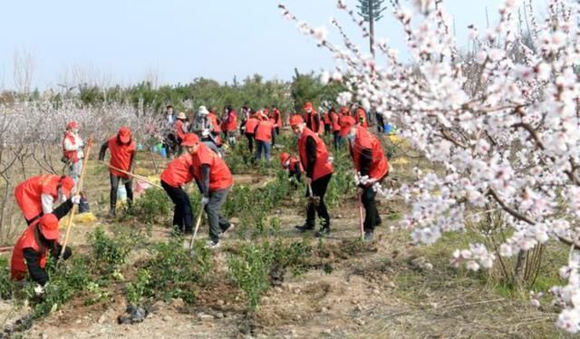
<svg viewBox="0 0 580 339">
<path fill-rule="evenodd" d="M 24 259 L 24 248 L 32 248 L 35 252 L 40 253 L 40 266 L 44 268 L 46 266 L 46 257 L 48 256 L 48 247 L 43 247 L 40 245 L 40 241 L 36 236 L 36 226 L 38 221 L 32 223 L 28 228 L 24 230 L 22 236 L 18 238 L 14 250 L 12 252 L 12 260 L 10 262 L 10 273 L 12 280 L 22 280 L 28 273 L 28 266 L 26 266 L 26 260 Z"/>
</svg>

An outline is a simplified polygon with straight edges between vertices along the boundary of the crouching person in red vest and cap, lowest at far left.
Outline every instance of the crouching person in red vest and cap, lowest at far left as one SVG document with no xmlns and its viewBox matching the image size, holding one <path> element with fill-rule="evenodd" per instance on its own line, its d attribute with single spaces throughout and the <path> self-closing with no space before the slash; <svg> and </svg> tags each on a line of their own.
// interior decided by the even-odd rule
<svg viewBox="0 0 580 339">
<path fill-rule="evenodd" d="M 43 215 L 29 225 L 22 236 L 16 241 L 10 261 L 10 276 L 12 280 L 23 280 L 26 274 L 38 286 L 34 288 L 36 294 L 43 294 L 43 286 L 48 283 L 46 261 L 50 254 L 56 261 L 61 255 L 63 247 L 58 242 L 60 236 L 58 220 L 66 216 L 74 204 L 78 205 L 81 196 L 77 195 L 63 202 L 51 213 Z M 64 248 L 63 259 L 71 257 L 71 247 Z"/>
</svg>

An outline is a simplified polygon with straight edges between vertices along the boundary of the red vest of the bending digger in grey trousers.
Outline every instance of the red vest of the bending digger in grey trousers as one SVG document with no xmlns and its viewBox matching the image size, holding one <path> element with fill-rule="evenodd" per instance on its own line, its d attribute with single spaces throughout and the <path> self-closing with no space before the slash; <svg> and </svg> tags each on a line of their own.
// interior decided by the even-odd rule
<svg viewBox="0 0 580 339">
<path fill-rule="evenodd" d="M 209 165 L 209 191 L 227 189 L 234 184 L 234 178 L 227 168 L 226 161 L 209 150 L 208 146 L 199 144 L 198 152 L 192 154 L 191 158 L 193 160 L 193 176 L 198 181 L 202 179 L 201 165 Z"/>
</svg>

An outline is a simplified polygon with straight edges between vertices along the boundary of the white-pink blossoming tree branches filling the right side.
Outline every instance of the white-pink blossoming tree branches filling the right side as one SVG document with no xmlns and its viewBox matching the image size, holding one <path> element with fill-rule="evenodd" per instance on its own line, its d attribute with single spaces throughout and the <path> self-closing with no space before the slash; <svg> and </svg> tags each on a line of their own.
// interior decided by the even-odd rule
<svg viewBox="0 0 580 339">
<path fill-rule="evenodd" d="M 362 19 L 342 0 L 337 5 L 368 36 Z M 532 14 L 526 33 L 517 29 L 520 6 Z M 415 182 L 385 191 L 411 203 L 401 226 L 412 229 L 415 241 L 432 244 L 445 232 L 461 232 L 468 224 L 498 216 L 508 236 L 497 248 L 476 243 L 453 255 L 453 264 L 465 263 L 472 270 L 497 265 L 502 257 L 515 256 L 519 262 L 550 240 L 569 247 L 568 265 L 559 272 L 567 285 L 554 286 L 551 293 L 562 306 L 556 324 L 578 332 L 580 6 L 550 0 L 546 19 L 539 20 L 531 1 L 506 0 L 495 26 L 486 32 L 469 27 L 477 53 L 465 56 L 450 32 L 443 1 L 403 5 L 393 0 L 409 62 L 381 39 L 375 39 L 376 58 L 363 53 L 336 19 L 331 23 L 341 43 L 333 44 L 324 27 L 314 28 L 285 5 L 280 8 L 301 32 L 333 53 L 336 69 L 323 78 L 349 89 L 339 102 L 361 102 L 397 121 L 401 136 L 442 168 L 416 169 Z"/>
</svg>

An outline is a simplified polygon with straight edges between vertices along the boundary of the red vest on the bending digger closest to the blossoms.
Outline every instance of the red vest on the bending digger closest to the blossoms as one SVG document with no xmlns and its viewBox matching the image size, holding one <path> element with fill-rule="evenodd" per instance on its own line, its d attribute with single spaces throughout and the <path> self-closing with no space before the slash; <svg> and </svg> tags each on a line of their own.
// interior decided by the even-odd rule
<svg viewBox="0 0 580 339">
<path fill-rule="evenodd" d="M 352 143 L 349 142 L 349 150 L 353 158 L 354 168 L 361 170 L 362 150 L 372 150 L 371 168 L 369 177 L 373 179 L 383 179 L 389 172 L 389 162 L 385 157 L 381 147 L 381 140 L 363 127 L 356 129 L 356 135 Z"/>
</svg>

